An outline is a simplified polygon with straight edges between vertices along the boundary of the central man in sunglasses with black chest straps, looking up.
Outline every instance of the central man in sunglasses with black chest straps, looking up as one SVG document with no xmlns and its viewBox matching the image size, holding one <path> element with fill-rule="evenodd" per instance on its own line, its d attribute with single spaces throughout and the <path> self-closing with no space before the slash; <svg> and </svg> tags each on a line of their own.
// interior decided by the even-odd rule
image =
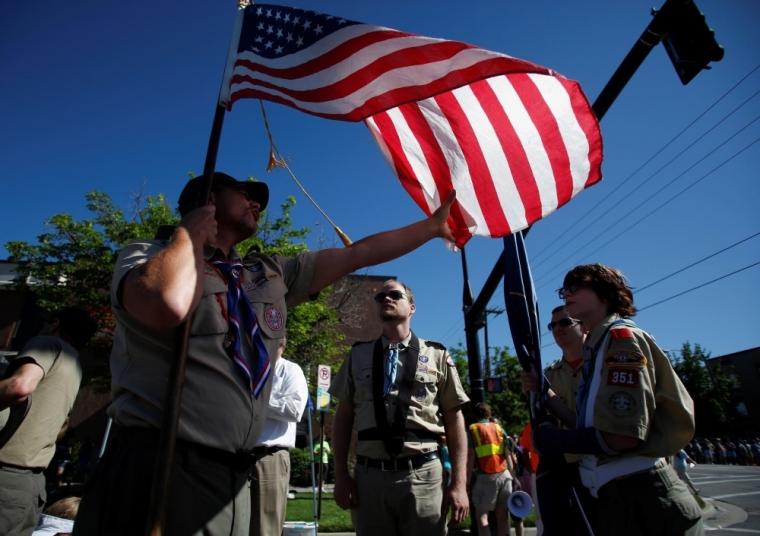
<svg viewBox="0 0 760 536">
<path fill-rule="evenodd" d="M 335 502 L 351 509 L 357 534 L 442 536 L 469 509 L 467 439 L 460 406 L 468 401 L 446 348 L 411 331 L 411 289 L 386 281 L 375 296 L 379 339 L 357 343 L 330 386 Z M 348 471 L 351 429 L 356 467 Z M 444 489 L 439 441 L 445 433 L 452 478 Z"/>
</svg>

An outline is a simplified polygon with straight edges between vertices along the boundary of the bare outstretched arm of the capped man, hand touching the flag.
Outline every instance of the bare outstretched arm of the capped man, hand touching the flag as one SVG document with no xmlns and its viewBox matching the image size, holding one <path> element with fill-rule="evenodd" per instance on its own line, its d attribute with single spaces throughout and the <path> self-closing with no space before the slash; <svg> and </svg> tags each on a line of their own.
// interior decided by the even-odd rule
<svg viewBox="0 0 760 536">
<path fill-rule="evenodd" d="M 359 268 L 374 266 L 406 255 L 433 238 L 444 238 L 453 242 L 454 238 L 446 221 L 455 199 L 456 191 L 452 190 L 448 199 L 427 219 L 401 229 L 368 236 L 346 248 L 321 250 L 317 255 L 309 294 L 316 294 Z"/>
</svg>

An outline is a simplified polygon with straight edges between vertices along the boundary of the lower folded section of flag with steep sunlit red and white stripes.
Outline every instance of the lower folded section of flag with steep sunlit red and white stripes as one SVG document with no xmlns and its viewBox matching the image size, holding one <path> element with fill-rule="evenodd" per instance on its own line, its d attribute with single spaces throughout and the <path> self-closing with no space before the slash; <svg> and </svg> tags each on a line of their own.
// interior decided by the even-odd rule
<svg viewBox="0 0 760 536">
<path fill-rule="evenodd" d="M 365 123 L 427 214 L 457 190 L 457 247 L 525 229 L 601 179 L 596 118 L 578 83 L 557 76 L 491 77 Z"/>
</svg>

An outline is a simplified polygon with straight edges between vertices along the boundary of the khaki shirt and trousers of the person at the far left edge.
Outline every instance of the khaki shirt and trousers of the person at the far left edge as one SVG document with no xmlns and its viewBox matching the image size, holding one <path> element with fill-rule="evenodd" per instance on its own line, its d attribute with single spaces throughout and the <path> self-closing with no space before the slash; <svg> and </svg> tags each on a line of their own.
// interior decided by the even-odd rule
<svg viewBox="0 0 760 536">
<path fill-rule="evenodd" d="M 16 359 L 31 358 L 44 372 L 29 396 L 23 422 L 0 448 L 0 534 L 31 534 L 45 506 L 42 471 L 55 453 L 55 440 L 66 422 L 82 381 L 79 354 L 55 337 L 30 340 Z M 14 368 L 13 362 L 9 370 Z"/>
</svg>

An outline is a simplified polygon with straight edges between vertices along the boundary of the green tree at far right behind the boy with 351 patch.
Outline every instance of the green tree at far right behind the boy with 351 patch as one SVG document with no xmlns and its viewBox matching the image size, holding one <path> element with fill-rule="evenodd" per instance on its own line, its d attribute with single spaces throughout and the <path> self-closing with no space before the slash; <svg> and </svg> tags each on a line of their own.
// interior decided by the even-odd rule
<svg viewBox="0 0 760 536">
<path fill-rule="evenodd" d="M 710 353 L 699 344 L 694 347 L 683 343 L 681 352 L 671 352 L 673 368 L 681 378 L 686 390 L 694 401 L 696 435 L 722 435 L 730 431 L 729 409 L 732 393 L 736 386 L 733 371 L 718 366 L 707 369 L 705 361 Z"/>
</svg>

